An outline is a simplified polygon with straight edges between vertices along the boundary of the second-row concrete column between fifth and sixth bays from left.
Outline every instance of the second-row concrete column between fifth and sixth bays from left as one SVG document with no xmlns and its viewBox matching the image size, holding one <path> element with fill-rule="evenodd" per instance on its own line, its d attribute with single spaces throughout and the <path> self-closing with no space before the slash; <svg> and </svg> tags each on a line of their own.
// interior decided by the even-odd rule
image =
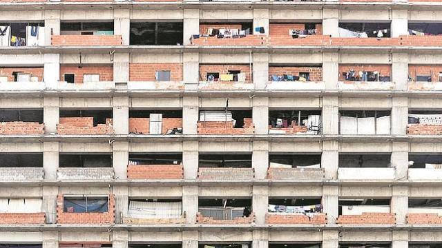
<svg viewBox="0 0 442 248">
<path fill-rule="evenodd" d="M 337 52 L 323 53 L 323 81 L 325 89 L 338 90 L 339 54 Z"/>
</svg>

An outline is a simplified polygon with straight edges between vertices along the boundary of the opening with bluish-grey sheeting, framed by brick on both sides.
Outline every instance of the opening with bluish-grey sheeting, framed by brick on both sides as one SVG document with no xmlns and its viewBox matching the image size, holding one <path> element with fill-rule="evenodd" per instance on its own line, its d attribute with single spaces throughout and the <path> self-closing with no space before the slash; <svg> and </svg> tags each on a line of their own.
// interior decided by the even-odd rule
<svg viewBox="0 0 442 248">
<path fill-rule="evenodd" d="M 108 201 L 108 196 L 64 196 L 63 211 L 65 213 L 106 213 Z"/>
</svg>

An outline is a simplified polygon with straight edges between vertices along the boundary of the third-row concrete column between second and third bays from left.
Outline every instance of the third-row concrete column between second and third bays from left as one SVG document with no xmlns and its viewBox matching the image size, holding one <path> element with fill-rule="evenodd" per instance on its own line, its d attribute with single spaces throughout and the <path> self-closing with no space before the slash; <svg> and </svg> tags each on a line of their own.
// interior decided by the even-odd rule
<svg viewBox="0 0 442 248">
<path fill-rule="evenodd" d="M 129 97 L 113 97 L 113 129 L 115 134 L 129 134 Z"/>
</svg>

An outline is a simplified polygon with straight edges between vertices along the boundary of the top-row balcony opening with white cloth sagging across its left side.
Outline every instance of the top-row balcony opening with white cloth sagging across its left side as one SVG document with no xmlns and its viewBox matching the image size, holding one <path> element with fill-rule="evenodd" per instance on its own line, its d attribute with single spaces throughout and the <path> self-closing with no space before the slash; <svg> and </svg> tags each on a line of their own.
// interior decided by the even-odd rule
<svg viewBox="0 0 442 248">
<path fill-rule="evenodd" d="M 390 23 L 339 23 L 340 38 L 390 38 Z"/>
</svg>

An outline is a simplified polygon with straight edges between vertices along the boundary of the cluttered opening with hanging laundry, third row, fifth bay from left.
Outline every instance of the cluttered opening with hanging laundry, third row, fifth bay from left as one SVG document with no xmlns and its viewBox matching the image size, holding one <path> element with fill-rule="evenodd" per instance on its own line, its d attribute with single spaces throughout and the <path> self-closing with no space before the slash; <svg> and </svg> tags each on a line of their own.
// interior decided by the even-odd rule
<svg viewBox="0 0 442 248">
<path fill-rule="evenodd" d="M 321 134 L 320 110 L 269 110 L 269 134 Z"/>
</svg>

